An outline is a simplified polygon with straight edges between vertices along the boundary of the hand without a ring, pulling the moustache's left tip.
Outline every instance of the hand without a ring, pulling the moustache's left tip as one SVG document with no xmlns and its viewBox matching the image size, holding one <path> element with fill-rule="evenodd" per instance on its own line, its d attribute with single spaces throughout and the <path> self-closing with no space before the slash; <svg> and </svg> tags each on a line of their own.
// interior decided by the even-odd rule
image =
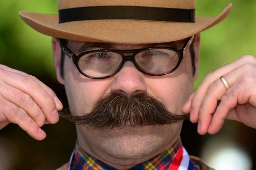
<svg viewBox="0 0 256 170">
<path fill-rule="evenodd" d="M 0 65 L 0 129 L 18 124 L 36 140 L 43 140 L 44 124 L 59 121 L 62 103 L 44 83 L 27 73 Z"/>
</svg>

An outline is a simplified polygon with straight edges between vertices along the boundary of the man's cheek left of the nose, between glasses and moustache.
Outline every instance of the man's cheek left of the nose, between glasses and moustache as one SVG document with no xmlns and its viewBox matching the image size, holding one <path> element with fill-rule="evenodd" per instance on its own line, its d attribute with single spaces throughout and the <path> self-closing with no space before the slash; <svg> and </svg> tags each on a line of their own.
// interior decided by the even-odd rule
<svg viewBox="0 0 256 170">
<path fill-rule="evenodd" d="M 83 76 L 71 62 L 66 60 L 65 90 L 72 113 L 83 115 L 90 112 L 94 103 L 109 92 L 111 79 L 94 80 Z"/>
</svg>

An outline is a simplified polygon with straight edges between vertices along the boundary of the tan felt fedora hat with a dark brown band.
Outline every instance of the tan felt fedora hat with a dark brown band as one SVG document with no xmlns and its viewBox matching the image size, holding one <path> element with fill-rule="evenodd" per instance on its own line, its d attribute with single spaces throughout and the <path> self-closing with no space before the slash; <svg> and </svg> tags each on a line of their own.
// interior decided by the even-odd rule
<svg viewBox="0 0 256 170">
<path fill-rule="evenodd" d="M 21 11 L 33 29 L 88 42 L 157 43 L 187 38 L 225 19 L 195 17 L 195 0 L 58 0 L 59 15 Z"/>
</svg>

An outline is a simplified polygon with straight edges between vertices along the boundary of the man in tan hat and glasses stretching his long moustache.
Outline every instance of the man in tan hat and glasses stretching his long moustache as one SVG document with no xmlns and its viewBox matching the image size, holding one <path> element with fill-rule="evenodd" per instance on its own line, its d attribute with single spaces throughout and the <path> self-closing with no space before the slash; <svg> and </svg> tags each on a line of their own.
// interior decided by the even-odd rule
<svg viewBox="0 0 256 170">
<path fill-rule="evenodd" d="M 254 57 L 215 70 L 192 93 L 199 33 L 225 19 L 231 5 L 196 19 L 191 0 L 59 0 L 59 9 L 59 16 L 20 15 L 54 37 L 72 113 L 61 115 L 77 124 L 78 137 L 62 169 L 207 169 L 179 139 L 189 113 L 199 134 L 217 133 L 225 119 L 256 128 Z M 26 73 L 1 66 L 1 77 L 0 127 L 13 122 L 43 140 L 40 127 L 59 120 L 61 102 Z"/>
</svg>

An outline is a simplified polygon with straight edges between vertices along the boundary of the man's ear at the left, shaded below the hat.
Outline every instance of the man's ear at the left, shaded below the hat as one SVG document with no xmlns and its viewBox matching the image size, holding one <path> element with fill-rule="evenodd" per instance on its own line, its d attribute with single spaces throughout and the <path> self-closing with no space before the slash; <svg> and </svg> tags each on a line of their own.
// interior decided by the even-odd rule
<svg viewBox="0 0 256 170">
<path fill-rule="evenodd" d="M 56 75 L 59 83 L 64 85 L 64 79 L 60 74 L 60 60 L 61 60 L 61 48 L 59 46 L 59 39 L 52 37 L 52 54 L 54 58 L 54 66 L 56 70 Z"/>
</svg>

